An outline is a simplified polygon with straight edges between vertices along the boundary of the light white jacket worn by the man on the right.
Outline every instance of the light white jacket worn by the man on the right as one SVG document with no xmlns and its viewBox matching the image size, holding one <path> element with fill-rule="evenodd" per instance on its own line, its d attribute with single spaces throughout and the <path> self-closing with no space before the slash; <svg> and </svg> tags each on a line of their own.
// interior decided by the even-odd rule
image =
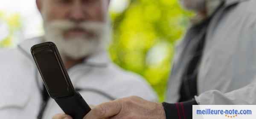
<svg viewBox="0 0 256 119">
<path fill-rule="evenodd" d="M 256 0 L 225 0 L 207 29 L 198 71 L 198 104 L 256 104 Z M 176 49 L 174 64 L 184 44 Z M 177 102 L 180 73 L 169 80 L 167 102 Z"/>
</svg>

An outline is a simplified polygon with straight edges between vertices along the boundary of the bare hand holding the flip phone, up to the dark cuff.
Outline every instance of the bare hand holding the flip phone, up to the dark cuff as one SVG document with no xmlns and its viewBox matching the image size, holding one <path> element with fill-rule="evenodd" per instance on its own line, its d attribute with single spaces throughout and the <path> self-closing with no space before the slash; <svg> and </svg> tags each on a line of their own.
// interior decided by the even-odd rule
<svg viewBox="0 0 256 119">
<path fill-rule="evenodd" d="M 137 96 L 99 104 L 83 119 L 166 119 L 162 104 Z"/>
</svg>

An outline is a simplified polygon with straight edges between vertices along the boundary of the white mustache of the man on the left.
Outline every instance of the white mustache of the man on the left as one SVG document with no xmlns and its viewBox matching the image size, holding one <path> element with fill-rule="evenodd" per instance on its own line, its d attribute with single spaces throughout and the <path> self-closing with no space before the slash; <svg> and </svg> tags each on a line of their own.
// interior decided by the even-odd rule
<svg viewBox="0 0 256 119">
<path fill-rule="evenodd" d="M 69 20 L 55 20 L 48 23 L 44 23 L 44 29 L 54 29 L 55 32 L 64 32 L 70 29 L 83 29 L 87 32 L 93 32 L 94 34 L 100 34 L 105 31 L 107 23 L 84 21 L 81 23 L 75 23 Z"/>
</svg>

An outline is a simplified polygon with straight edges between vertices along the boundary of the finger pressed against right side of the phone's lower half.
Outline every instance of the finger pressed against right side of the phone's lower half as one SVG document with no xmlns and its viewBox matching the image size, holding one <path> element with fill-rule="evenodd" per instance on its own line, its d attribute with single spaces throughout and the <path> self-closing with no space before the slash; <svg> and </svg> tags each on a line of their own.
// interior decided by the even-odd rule
<svg viewBox="0 0 256 119">
<path fill-rule="evenodd" d="M 119 101 L 105 102 L 93 108 L 83 119 L 107 119 L 118 114 L 121 109 Z"/>
</svg>

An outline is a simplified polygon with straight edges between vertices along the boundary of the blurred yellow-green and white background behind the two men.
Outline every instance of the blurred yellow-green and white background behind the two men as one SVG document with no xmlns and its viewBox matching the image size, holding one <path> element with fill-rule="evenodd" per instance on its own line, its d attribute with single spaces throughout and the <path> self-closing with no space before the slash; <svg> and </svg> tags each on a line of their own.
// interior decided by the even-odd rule
<svg viewBox="0 0 256 119">
<path fill-rule="evenodd" d="M 111 0 L 109 13 L 112 61 L 144 76 L 163 101 L 175 43 L 192 13 L 184 11 L 177 0 Z M 42 35 L 35 0 L 0 1 L 0 48 L 14 48 L 24 39 Z"/>
</svg>

